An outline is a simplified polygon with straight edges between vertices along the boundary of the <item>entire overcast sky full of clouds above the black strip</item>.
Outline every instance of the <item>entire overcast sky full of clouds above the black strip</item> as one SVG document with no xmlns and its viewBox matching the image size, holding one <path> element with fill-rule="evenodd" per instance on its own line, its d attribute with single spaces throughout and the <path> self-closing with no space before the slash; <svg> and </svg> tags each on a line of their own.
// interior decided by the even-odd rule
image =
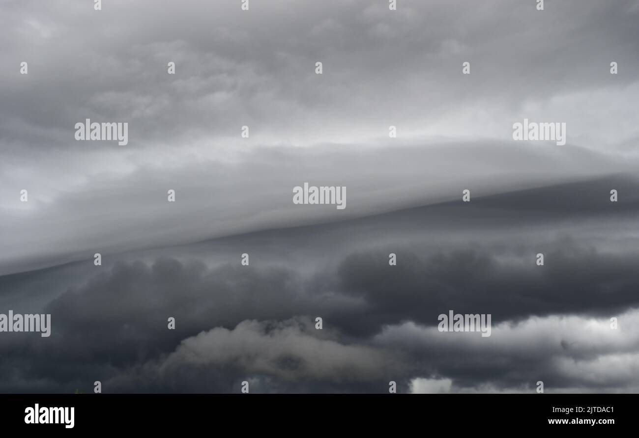
<svg viewBox="0 0 639 438">
<path fill-rule="evenodd" d="M 0 391 L 639 391 L 639 1 L 241 3 L 0 4 Z"/>
</svg>

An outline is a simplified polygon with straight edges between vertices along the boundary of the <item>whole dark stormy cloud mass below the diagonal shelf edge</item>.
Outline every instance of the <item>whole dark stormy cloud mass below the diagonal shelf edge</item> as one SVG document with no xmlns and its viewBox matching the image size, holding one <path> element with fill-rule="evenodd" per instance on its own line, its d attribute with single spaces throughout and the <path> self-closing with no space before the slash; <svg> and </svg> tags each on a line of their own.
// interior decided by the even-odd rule
<svg viewBox="0 0 639 438">
<path fill-rule="evenodd" d="M 475 198 L 465 206 L 461 221 L 445 221 L 459 217 L 450 210 L 456 204 L 445 203 L 340 223 L 268 230 L 144 256 L 174 253 L 185 259 L 219 260 L 214 255 L 219 252 L 221 260 L 228 260 L 240 253 L 239 248 L 250 248 L 251 266 L 240 266 L 239 259 L 217 268 L 171 259 L 152 265 L 116 263 L 45 307 L 54 324 L 48 340 L 26 335 L 4 338 L 3 351 L 12 352 L 12 359 L 3 361 L 3 369 L 19 378 L 4 381 L 3 388 L 66 391 L 67 386 L 102 379 L 112 391 L 227 392 L 235 391 L 242 380 L 255 379 L 256 391 L 377 392 L 389 380 L 408 390 L 413 377 L 433 375 L 452 379 L 452 390 L 481 384 L 490 384 L 491 390 L 511 390 L 539 374 L 556 388 L 569 384 L 597 388 L 588 379 L 567 379 L 557 360 L 633 354 L 632 338 L 622 338 L 624 347 L 612 343 L 584 351 L 574 345 L 574 333 L 579 333 L 575 322 L 570 333 L 555 344 L 549 342 L 533 360 L 528 356 L 534 352 L 521 352 L 512 345 L 523 339 L 533 342 L 534 330 L 522 329 L 511 336 L 510 344 L 505 343 L 508 347 L 497 344 L 487 352 L 480 345 L 502 339 L 493 328 L 491 338 L 475 340 L 472 360 L 461 366 L 470 357 L 466 342 L 451 344 L 445 333 L 429 337 L 423 331 L 435 329 L 438 314 L 448 310 L 491 313 L 495 325 L 534 324 L 535 317 L 541 317 L 552 326 L 553 315 L 587 321 L 639 306 L 632 292 L 639 286 L 635 263 L 639 255 L 631 250 L 633 241 L 626 249 L 617 246 L 611 252 L 592 245 L 597 234 L 592 229 L 579 234 L 580 227 L 599 218 L 596 229 L 603 228 L 614 240 L 615 232 L 606 229 L 615 223 L 611 218 L 619 216 L 620 224 L 636 218 L 636 203 L 627 190 L 632 180 L 602 181 Z M 629 198 L 617 211 L 592 208 L 600 195 L 606 196 L 599 193 L 601 186 L 611 185 L 628 192 Z M 558 197 L 548 200 L 553 193 Z M 527 199 L 548 202 L 540 202 L 539 211 L 528 217 Z M 548 238 L 549 224 L 557 218 L 571 221 L 572 237 Z M 527 223 L 544 225 L 530 230 Z M 454 238 L 456 232 L 468 233 L 472 224 L 473 239 Z M 488 237 L 491 229 L 500 230 L 497 237 Z M 477 230 L 483 230 L 486 238 L 479 239 Z M 387 243 L 371 239 L 378 234 L 386 235 Z M 410 236 L 410 243 L 403 236 Z M 543 267 L 535 265 L 538 247 L 546 257 Z M 389 266 L 389 252 L 397 253 L 397 266 Z M 121 258 L 135 259 L 135 254 Z M 315 268 L 309 269 L 313 261 Z M 100 269 L 89 266 L 94 268 Z M 77 270 L 73 278 L 87 272 L 86 267 L 73 269 Z M 38 275 L 45 280 L 51 274 Z M 3 289 L 22 284 L 22 289 L 33 290 L 37 285 L 26 274 L 8 277 Z M 58 276 L 58 281 L 65 280 Z M 15 297 L 5 300 L 6 305 L 17 302 Z M 175 331 L 167 329 L 169 316 L 176 318 Z M 312 327 L 316 316 L 323 318 L 325 331 Z M 422 328 L 410 329 L 415 324 Z M 299 342 L 291 342 L 295 339 Z M 260 349 L 264 343 L 272 347 Z M 335 357 L 328 355 L 324 365 L 318 363 L 313 349 L 302 347 L 315 344 L 333 349 Z M 524 361 L 528 365 L 522 365 Z M 586 366 L 599 369 L 596 364 Z M 20 386 L 19 382 L 31 383 Z M 613 383 L 612 377 L 607 378 L 599 388 L 620 384 Z"/>
</svg>

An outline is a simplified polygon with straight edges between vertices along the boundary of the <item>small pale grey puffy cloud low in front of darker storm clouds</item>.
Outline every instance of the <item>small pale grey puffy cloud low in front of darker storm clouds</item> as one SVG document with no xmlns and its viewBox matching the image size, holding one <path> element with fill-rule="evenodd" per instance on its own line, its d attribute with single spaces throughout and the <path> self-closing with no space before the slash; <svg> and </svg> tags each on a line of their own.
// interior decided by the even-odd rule
<svg viewBox="0 0 639 438">
<path fill-rule="evenodd" d="M 234 329 L 215 328 L 185 339 L 162 364 L 160 374 L 176 366 L 232 365 L 247 375 L 273 375 L 283 381 L 380 381 L 401 363 L 366 345 L 344 345 L 319 337 L 308 318 L 282 322 L 243 321 Z M 381 385 L 380 385 L 381 386 Z"/>
</svg>

